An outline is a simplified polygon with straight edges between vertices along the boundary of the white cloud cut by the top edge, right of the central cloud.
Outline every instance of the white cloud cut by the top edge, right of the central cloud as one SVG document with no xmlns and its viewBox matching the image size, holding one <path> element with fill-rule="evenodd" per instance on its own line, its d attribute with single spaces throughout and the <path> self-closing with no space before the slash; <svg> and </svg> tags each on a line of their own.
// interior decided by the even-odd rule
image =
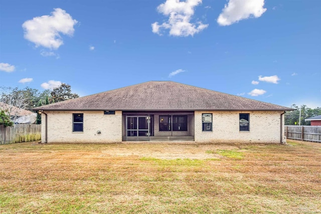
<svg viewBox="0 0 321 214">
<path fill-rule="evenodd" d="M 217 19 L 221 26 L 228 26 L 248 18 L 258 18 L 266 11 L 264 0 L 229 0 Z"/>
</svg>

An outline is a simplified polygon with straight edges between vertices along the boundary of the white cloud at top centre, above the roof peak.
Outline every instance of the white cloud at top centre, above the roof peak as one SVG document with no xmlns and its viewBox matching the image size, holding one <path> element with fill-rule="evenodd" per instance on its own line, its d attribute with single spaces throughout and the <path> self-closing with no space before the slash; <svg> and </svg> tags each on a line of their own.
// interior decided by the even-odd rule
<svg viewBox="0 0 321 214">
<path fill-rule="evenodd" d="M 157 7 L 158 13 L 169 17 L 167 22 L 159 25 L 158 22 L 151 24 L 154 34 L 162 35 L 162 29 L 169 29 L 171 36 L 188 37 L 197 34 L 208 27 L 202 22 L 191 23 L 194 8 L 202 4 L 202 0 L 167 0 Z"/>
</svg>

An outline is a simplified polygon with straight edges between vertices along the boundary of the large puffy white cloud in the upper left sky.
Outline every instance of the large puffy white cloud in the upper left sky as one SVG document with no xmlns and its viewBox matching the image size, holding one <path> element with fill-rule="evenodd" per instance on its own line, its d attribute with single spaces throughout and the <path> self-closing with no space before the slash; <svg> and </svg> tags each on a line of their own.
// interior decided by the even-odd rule
<svg viewBox="0 0 321 214">
<path fill-rule="evenodd" d="M 25 39 L 36 44 L 36 47 L 43 46 L 50 49 L 58 49 L 63 43 L 60 34 L 72 36 L 74 25 L 78 23 L 66 13 L 56 8 L 52 16 L 35 17 L 26 21 L 22 27 L 25 31 Z"/>
</svg>

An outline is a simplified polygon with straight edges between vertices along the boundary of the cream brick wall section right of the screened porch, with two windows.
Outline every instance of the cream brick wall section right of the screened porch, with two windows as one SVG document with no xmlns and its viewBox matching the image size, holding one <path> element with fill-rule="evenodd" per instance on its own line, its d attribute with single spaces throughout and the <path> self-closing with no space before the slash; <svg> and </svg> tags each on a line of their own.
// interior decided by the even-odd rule
<svg viewBox="0 0 321 214">
<path fill-rule="evenodd" d="M 202 113 L 213 114 L 213 131 L 202 131 Z M 249 113 L 250 131 L 239 131 L 239 114 Z M 195 111 L 196 142 L 275 142 L 281 140 L 280 116 L 270 111 Z M 284 117 L 284 115 L 282 115 Z M 283 119 L 284 121 L 284 119 Z M 282 126 L 283 127 L 283 126 Z M 283 131 L 282 131 L 283 134 Z"/>
</svg>

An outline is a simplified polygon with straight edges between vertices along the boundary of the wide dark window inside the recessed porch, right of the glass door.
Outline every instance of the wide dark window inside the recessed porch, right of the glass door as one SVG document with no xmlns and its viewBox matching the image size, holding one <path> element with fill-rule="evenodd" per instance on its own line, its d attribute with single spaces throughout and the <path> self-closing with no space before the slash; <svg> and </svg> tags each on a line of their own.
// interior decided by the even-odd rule
<svg viewBox="0 0 321 214">
<path fill-rule="evenodd" d="M 159 131 L 187 131 L 187 115 L 159 116 Z"/>
</svg>

